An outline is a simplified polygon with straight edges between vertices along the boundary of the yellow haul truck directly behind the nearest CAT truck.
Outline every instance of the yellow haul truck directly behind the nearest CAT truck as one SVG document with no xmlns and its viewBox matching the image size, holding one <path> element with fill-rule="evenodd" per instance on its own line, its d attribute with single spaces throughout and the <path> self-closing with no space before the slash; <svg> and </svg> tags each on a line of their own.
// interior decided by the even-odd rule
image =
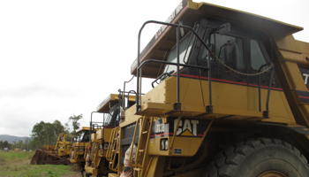
<svg viewBox="0 0 309 177">
<path fill-rule="evenodd" d="M 123 99 L 123 97 L 125 98 Z M 97 106 L 97 112 L 104 113 L 104 118 L 103 122 L 93 122 L 91 120 L 92 127 L 94 127 L 94 124 L 102 124 L 102 126 L 97 127 L 96 132 L 91 135 L 90 161 L 85 166 L 87 176 L 102 176 L 117 172 L 117 166 L 109 165 L 112 164 L 109 162 L 117 162 L 117 157 L 113 155 L 117 147 L 119 121 L 123 119 L 121 112 L 124 113 L 123 108 L 125 105 L 134 103 L 135 96 L 129 96 L 129 93 L 119 91 L 119 95 L 110 94 Z M 113 165 L 115 164 L 113 163 Z"/>
</svg>

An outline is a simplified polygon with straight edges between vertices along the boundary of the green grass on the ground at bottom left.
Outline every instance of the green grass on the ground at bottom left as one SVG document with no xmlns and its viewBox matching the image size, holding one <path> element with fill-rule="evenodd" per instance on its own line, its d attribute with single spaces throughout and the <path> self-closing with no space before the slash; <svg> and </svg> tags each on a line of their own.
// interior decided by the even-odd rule
<svg viewBox="0 0 309 177">
<path fill-rule="evenodd" d="M 13 156 L 17 156 L 19 159 L 11 159 L 11 153 Z M 67 165 L 30 165 L 32 155 L 29 153 L 29 158 L 22 155 L 25 152 L 3 152 L 0 151 L 0 172 L 1 176 L 23 176 L 23 177 L 39 177 L 39 176 L 65 176 L 65 174 L 70 174 L 71 166 Z M 20 155 L 21 154 L 21 155 Z"/>
</svg>

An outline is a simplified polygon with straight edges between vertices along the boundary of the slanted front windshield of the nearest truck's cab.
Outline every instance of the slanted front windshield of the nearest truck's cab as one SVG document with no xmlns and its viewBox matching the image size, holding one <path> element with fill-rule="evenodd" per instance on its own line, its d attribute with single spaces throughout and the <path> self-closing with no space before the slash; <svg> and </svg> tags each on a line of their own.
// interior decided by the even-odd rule
<svg viewBox="0 0 309 177">
<path fill-rule="evenodd" d="M 190 51 L 192 49 L 193 36 L 190 32 L 188 35 L 179 42 L 179 63 L 185 64 L 189 58 Z M 177 45 L 170 50 L 170 56 L 168 62 L 177 63 Z M 183 66 L 180 66 L 180 69 Z M 163 73 L 175 73 L 177 71 L 177 65 L 166 65 Z"/>
</svg>

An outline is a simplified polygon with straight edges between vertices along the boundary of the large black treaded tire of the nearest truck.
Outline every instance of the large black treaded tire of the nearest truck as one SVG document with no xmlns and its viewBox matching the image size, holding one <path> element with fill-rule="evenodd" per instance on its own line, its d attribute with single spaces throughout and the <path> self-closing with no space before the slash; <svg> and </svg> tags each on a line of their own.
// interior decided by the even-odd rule
<svg viewBox="0 0 309 177">
<path fill-rule="evenodd" d="M 309 177 L 306 158 L 290 143 L 259 138 L 229 146 L 204 177 Z"/>
</svg>

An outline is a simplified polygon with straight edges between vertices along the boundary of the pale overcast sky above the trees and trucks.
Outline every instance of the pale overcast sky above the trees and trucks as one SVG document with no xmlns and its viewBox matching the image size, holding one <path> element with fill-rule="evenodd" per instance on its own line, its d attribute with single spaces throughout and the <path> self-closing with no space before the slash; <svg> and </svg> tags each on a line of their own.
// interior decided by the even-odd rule
<svg viewBox="0 0 309 177">
<path fill-rule="evenodd" d="M 304 27 L 294 36 L 309 42 L 309 1 L 278 2 L 207 1 Z M 80 113 L 81 126 L 88 126 L 96 106 L 131 79 L 141 25 L 149 19 L 165 21 L 179 3 L 0 1 L 0 135 L 28 136 L 41 120 L 64 125 Z M 142 46 L 159 27 L 146 28 Z M 135 87 L 135 80 L 127 86 Z"/>
</svg>

